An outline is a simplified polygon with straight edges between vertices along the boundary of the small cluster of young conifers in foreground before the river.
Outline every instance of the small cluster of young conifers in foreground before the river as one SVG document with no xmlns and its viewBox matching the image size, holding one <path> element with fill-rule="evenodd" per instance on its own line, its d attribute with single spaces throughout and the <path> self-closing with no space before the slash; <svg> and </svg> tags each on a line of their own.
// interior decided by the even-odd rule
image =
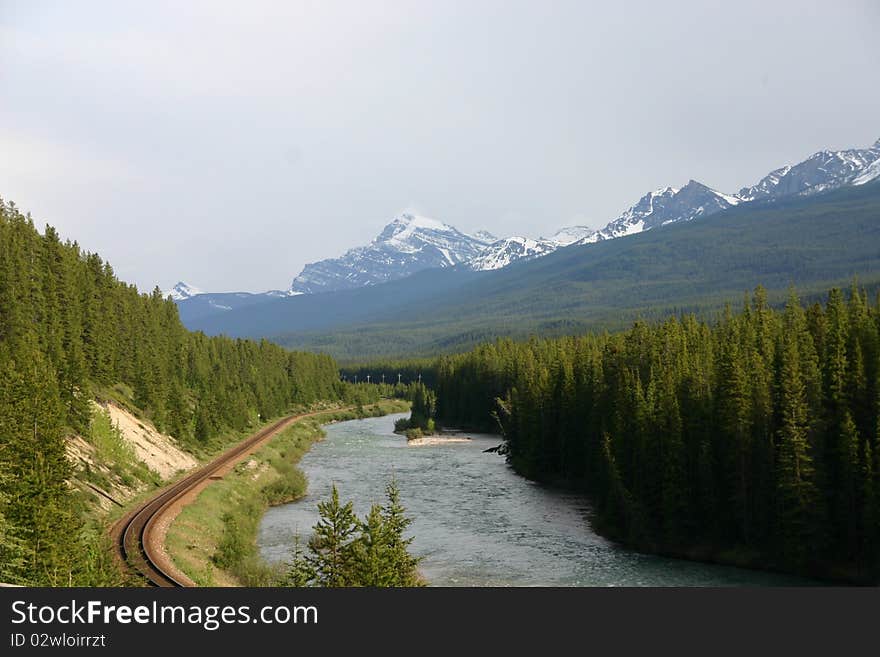
<svg viewBox="0 0 880 657">
<path fill-rule="evenodd" d="M 309 540 L 309 553 L 294 546 L 285 583 L 289 586 L 420 586 L 419 559 L 409 553 L 404 536 L 412 522 L 393 481 L 384 505 L 374 504 L 358 519 L 351 502 L 341 503 L 333 486 L 330 499 L 318 504 L 320 519 Z"/>
</svg>

